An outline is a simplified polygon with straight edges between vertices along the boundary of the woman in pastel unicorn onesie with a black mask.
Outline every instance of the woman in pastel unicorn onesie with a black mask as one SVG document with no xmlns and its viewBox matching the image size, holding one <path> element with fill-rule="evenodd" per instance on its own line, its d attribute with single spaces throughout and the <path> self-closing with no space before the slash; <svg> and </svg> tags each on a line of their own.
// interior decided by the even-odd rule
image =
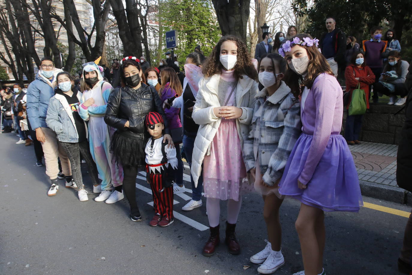
<svg viewBox="0 0 412 275">
<path fill-rule="evenodd" d="M 98 60 L 95 62 L 98 63 Z M 95 62 L 83 64 L 80 85 L 84 92 L 80 99 L 79 114 L 82 119 L 89 121 L 90 153 L 102 180 L 100 185 L 93 187 L 93 193 L 100 193 L 94 200 L 115 203 L 124 198 L 123 169 L 115 164 L 114 157 L 109 152 L 110 137 L 115 129 L 104 122 L 107 101 L 113 87 L 103 80 L 103 68 Z"/>
</svg>

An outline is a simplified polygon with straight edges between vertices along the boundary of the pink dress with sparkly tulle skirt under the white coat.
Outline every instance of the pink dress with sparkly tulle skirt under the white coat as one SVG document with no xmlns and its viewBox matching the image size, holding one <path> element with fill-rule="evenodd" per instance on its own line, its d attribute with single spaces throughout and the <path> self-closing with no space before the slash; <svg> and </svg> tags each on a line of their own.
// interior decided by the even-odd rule
<svg viewBox="0 0 412 275">
<path fill-rule="evenodd" d="M 218 93 L 219 99 L 222 99 L 221 106 L 225 104 L 233 85 L 237 84 L 233 72 L 223 71 L 220 75 Z M 230 96 L 227 106 L 235 106 L 235 99 L 236 90 Z M 246 178 L 246 168 L 236 129 L 236 119 L 222 119 L 211 143 L 210 155 L 204 158 L 204 196 L 238 201 L 242 191 L 250 189 L 247 182 L 243 184 L 244 178 Z"/>
</svg>

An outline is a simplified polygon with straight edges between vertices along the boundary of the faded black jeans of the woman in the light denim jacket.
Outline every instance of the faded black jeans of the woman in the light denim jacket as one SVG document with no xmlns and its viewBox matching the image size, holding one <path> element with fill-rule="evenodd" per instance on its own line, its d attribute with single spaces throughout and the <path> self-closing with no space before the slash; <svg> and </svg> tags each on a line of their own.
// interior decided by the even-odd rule
<svg viewBox="0 0 412 275">
<path fill-rule="evenodd" d="M 97 178 L 97 168 L 96 163 L 94 163 L 93 158 L 90 155 L 89 149 L 89 141 L 83 141 L 79 143 L 68 143 L 68 142 L 61 142 L 59 141 L 63 149 L 65 150 L 67 157 L 70 160 L 70 166 L 72 169 L 72 177 L 77 187 L 79 189 L 83 189 L 83 178 L 82 178 L 82 170 L 81 170 L 81 159 L 80 155 L 86 160 L 86 164 L 89 167 L 89 174 L 91 178 L 91 182 L 93 185 L 99 183 Z"/>
</svg>

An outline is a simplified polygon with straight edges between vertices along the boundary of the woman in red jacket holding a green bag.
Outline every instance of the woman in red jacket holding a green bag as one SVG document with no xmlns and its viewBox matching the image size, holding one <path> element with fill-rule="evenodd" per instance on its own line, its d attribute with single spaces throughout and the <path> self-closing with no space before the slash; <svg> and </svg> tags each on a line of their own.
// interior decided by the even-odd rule
<svg viewBox="0 0 412 275">
<path fill-rule="evenodd" d="M 366 95 L 366 108 L 369 109 L 369 85 L 375 82 L 375 74 L 372 70 L 366 66 L 365 58 L 362 52 L 356 52 L 353 54 L 351 63 L 345 69 L 346 79 L 346 91 L 350 92 L 352 100 L 352 91 L 356 89 L 358 83 L 361 84 L 361 89 L 365 91 Z M 349 104 L 346 109 L 349 109 Z M 362 127 L 363 115 L 349 115 L 346 117 L 346 127 L 344 137 L 348 145 L 361 144 L 358 141 L 359 132 Z"/>
</svg>

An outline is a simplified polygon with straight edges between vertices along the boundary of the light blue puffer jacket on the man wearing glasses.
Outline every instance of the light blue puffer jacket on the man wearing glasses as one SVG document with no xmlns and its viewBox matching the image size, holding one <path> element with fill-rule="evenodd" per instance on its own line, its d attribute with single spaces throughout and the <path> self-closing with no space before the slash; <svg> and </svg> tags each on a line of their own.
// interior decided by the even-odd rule
<svg viewBox="0 0 412 275">
<path fill-rule="evenodd" d="M 41 70 L 36 75 L 36 79 L 27 88 L 27 116 L 31 128 L 46 127 L 47 108 L 49 101 L 54 96 L 56 86 L 56 75 L 62 72 L 61 69 L 54 68 L 52 82 L 45 78 Z"/>
</svg>

